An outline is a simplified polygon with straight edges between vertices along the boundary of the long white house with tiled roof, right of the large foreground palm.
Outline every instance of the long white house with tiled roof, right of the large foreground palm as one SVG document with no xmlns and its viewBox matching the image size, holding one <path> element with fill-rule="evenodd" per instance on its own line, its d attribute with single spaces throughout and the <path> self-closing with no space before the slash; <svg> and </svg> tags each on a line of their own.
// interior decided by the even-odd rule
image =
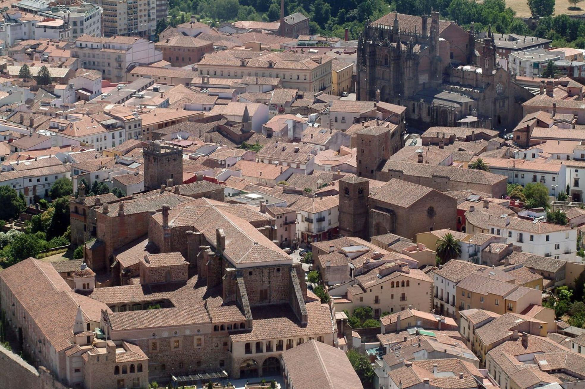
<svg viewBox="0 0 585 389">
<path fill-rule="evenodd" d="M 494 217 L 488 222 L 490 234 L 507 238 L 523 252 L 576 262 L 577 230 L 567 225 L 526 220 L 518 217 Z"/>
</svg>

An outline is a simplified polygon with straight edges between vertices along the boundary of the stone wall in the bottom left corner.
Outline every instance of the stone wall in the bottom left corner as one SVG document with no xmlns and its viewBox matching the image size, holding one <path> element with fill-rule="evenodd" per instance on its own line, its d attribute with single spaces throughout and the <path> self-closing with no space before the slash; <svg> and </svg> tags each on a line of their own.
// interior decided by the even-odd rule
<svg viewBox="0 0 585 389">
<path fill-rule="evenodd" d="M 18 385 L 18 386 L 15 386 Z M 56 381 L 44 366 L 39 370 L 24 359 L 0 345 L 0 387 L 67 389 L 66 385 Z"/>
</svg>

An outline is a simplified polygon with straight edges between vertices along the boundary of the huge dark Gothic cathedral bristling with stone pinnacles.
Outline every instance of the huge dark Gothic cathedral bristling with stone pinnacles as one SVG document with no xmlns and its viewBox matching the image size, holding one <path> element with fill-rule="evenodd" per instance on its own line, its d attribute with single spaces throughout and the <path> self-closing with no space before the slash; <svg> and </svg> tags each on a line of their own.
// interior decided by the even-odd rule
<svg viewBox="0 0 585 389">
<path fill-rule="evenodd" d="M 407 107 L 421 129 L 431 126 L 511 129 L 532 97 L 497 66 L 491 29 L 476 39 L 454 22 L 390 13 L 367 22 L 357 49 L 357 99 Z"/>
</svg>

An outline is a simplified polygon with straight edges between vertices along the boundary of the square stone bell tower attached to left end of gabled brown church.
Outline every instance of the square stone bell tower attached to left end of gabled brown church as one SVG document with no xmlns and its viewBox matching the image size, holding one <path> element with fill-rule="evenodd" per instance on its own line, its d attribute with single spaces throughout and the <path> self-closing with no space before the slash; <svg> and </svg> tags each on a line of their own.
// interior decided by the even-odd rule
<svg viewBox="0 0 585 389">
<path fill-rule="evenodd" d="M 358 176 L 339 180 L 339 235 L 367 239 L 370 181 Z"/>
</svg>

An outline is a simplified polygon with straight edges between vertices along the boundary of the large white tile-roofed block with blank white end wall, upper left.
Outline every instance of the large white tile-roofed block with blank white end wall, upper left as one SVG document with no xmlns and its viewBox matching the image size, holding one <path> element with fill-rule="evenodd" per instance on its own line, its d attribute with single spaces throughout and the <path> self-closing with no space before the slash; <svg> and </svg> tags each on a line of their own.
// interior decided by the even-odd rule
<svg viewBox="0 0 585 389">
<path fill-rule="evenodd" d="M 81 67 L 102 72 L 113 82 L 125 81 L 130 64 L 150 64 L 163 59 L 154 43 L 139 37 L 115 36 L 98 38 L 81 36 L 71 47 L 71 57 L 79 58 Z"/>
</svg>

